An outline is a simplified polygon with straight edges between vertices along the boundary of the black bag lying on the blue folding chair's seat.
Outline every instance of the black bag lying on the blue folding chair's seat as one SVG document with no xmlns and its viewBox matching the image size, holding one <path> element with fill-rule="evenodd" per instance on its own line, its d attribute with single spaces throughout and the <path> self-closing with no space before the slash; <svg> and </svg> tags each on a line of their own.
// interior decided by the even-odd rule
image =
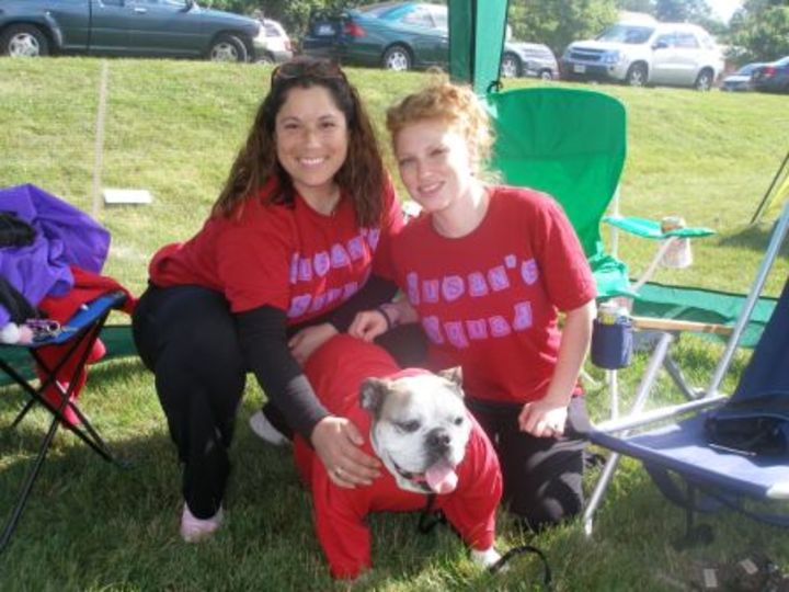
<svg viewBox="0 0 789 592">
<path fill-rule="evenodd" d="M 705 420 L 712 446 L 752 456 L 789 457 L 789 392 L 729 401 Z"/>
</svg>

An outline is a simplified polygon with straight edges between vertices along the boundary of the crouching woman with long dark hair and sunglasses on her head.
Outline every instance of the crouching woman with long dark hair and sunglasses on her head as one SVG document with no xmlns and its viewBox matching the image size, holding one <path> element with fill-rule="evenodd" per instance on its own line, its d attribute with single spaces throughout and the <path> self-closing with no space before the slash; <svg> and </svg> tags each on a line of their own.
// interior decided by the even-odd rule
<svg viewBox="0 0 789 592">
<path fill-rule="evenodd" d="M 317 400 L 299 362 L 389 299 L 402 215 L 358 94 L 332 62 L 297 59 L 271 90 L 210 217 L 159 250 L 134 335 L 183 463 L 181 535 L 222 520 L 245 374 L 310 442 L 335 483 L 378 476 L 363 437 Z"/>
</svg>

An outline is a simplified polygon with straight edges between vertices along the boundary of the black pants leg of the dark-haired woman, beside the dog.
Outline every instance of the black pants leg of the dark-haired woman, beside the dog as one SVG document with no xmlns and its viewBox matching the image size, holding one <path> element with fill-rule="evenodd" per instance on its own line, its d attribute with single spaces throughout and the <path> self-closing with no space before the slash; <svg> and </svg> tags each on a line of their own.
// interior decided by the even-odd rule
<svg viewBox="0 0 789 592">
<path fill-rule="evenodd" d="M 198 519 L 221 505 L 245 382 L 235 319 L 225 297 L 198 286 L 150 286 L 133 317 L 134 339 L 181 463 L 183 497 Z"/>
</svg>

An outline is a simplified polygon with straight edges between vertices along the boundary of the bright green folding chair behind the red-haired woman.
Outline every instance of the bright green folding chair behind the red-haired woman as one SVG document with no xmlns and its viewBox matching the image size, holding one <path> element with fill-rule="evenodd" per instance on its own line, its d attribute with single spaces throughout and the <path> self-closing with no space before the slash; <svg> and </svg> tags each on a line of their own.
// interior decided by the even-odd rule
<svg viewBox="0 0 789 592">
<path fill-rule="evenodd" d="M 713 234 L 708 228 L 664 232 L 656 220 L 604 216 L 627 156 L 627 116 L 617 99 L 551 87 L 491 92 L 484 101 L 496 134 L 491 168 L 505 183 L 544 191 L 562 205 L 588 258 L 598 299 L 637 296 L 627 264 L 604 248 L 602 221 L 663 241 L 658 258 L 667 252 L 668 241 Z"/>
</svg>

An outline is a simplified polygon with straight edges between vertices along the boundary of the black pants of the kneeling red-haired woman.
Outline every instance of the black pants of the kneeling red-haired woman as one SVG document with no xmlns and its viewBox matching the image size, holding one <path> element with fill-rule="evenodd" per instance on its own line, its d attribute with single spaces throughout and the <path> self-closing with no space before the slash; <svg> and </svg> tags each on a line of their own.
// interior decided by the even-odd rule
<svg viewBox="0 0 789 592">
<path fill-rule="evenodd" d="M 573 397 L 562 437 L 535 437 L 518 428 L 518 403 L 480 401 L 466 405 L 493 443 L 504 479 L 503 501 L 510 512 L 538 531 L 578 514 L 583 508 L 582 476 L 588 417 L 583 397 Z"/>
</svg>

